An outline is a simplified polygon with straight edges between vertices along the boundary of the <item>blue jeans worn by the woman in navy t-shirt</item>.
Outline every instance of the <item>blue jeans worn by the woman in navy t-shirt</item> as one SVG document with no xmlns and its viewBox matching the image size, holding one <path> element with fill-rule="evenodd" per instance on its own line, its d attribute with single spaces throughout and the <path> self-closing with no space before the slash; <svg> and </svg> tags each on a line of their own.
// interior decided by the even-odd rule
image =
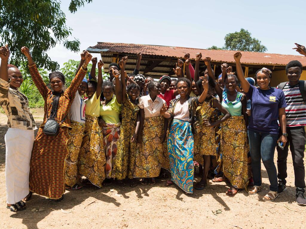
<svg viewBox="0 0 306 229">
<path fill-rule="evenodd" d="M 270 190 L 278 191 L 277 171 L 274 164 L 274 150 L 276 141 L 278 140 L 278 134 L 262 133 L 249 129 L 248 138 L 250 144 L 254 185 L 261 185 L 260 160 L 262 159 L 263 165 L 268 173 Z"/>
</svg>

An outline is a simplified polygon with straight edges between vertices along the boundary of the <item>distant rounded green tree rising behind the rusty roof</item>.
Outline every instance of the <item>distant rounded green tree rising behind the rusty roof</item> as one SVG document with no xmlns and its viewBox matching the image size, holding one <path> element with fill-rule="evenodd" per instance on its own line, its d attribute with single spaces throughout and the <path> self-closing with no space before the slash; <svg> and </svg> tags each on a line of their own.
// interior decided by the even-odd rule
<svg viewBox="0 0 306 229">
<path fill-rule="evenodd" d="M 235 51 L 249 51 L 263 53 L 267 51 L 267 47 L 261 44 L 256 38 L 251 36 L 252 34 L 245 29 L 240 29 L 239 32 L 228 33 L 225 35 L 225 44 L 222 48 L 218 48 L 213 45 L 207 49 L 224 49 Z"/>
</svg>

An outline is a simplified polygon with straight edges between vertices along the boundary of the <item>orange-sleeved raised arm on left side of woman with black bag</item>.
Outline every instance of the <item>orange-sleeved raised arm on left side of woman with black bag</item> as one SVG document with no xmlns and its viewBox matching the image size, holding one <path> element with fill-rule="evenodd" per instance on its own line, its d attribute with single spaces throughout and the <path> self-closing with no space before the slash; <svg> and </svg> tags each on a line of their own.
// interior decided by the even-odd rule
<svg viewBox="0 0 306 229">
<path fill-rule="evenodd" d="M 37 87 L 39 93 L 43 96 L 44 100 L 46 100 L 50 89 L 48 89 L 45 82 L 43 82 L 43 78 L 41 78 L 35 63 L 33 62 L 32 56 L 30 54 L 30 50 L 24 46 L 21 48 L 21 53 L 23 53 L 24 56 L 27 57 L 28 64 L 29 64 L 29 70 L 30 70 L 30 74 L 32 76 L 33 82 L 35 86 Z"/>
</svg>

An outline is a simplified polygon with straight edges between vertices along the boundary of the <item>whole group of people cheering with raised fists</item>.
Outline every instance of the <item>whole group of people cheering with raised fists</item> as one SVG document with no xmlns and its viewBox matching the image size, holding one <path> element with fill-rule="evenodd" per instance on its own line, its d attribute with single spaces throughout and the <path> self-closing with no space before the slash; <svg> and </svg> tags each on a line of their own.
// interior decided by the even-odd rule
<svg viewBox="0 0 306 229">
<path fill-rule="evenodd" d="M 306 56 L 304 46 L 297 51 Z M 202 54 L 195 68 L 187 53 L 173 69 L 177 78 L 162 76 L 155 81 L 139 74 L 142 54 L 132 74 L 126 74 L 128 57 L 109 65 L 109 80 L 102 78 L 103 61 L 81 53 L 70 86 L 61 72 L 49 74 L 46 85 L 27 47 L 21 52 L 43 96 L 44 118 L 37 129 L 27 97 L 18 91 L 23 77 L 8 64 L 9 47 L 0 48 L 0 104 L 8 117 L 6 143 L 7 208 L 26 208 L 32 193 L 61 201 L 65 189 L 108 186 L 114 180 L 131 187 L 154 185 L 156 178 L 171 177 L 186 194 L 203 190 L 207 176 L 212 182 L 228 181 L 226 195 L 241 190 L 262 190 L 261 160 L 270 190 L 263 200 L 273 201 L 286 190 L 288 142 L 293 158 L 297 204 L 306 205 L 304 143 L 306 125 L 305 82 L 302 64 L 286 66 L 288 82 L 270 86 L 272 72 L 263 67 L 254 78 L 244 78 L 237 52 L 237 75 L 222 64 L 217 78 L 211 59 L 203 58 L 206 70 L 199 74 Z M 89 78 L 88 63 L 92 61 Z M 95 75 L 98 65 L 98 76 Z M 239 83 L 240 82 L 240 83 Z M 278 152 L 274 164 L 275 147 Z M 199 166 L 199 182 L 194 181 Z"/>
</svg>

